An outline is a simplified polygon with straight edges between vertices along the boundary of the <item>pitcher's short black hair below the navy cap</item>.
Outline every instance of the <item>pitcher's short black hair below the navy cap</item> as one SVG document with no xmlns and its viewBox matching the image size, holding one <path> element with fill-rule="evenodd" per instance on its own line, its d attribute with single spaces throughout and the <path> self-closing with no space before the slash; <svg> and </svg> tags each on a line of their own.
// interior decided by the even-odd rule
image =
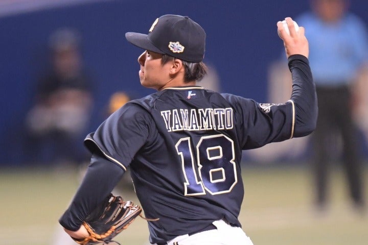
<svg viewBox="0 0 368 245">
<path fill-rule="evenodd" d="M 166 64 L 167 62 L 177 59 L 167 54 L 163 54 L 162 64 Z M 207 66 L 201 62 L 188 62 L 185 60 L 181 60 L 185 67 L 185 75 L 184 81 L 200 81 L 207 74 Z"/>
</svg>

